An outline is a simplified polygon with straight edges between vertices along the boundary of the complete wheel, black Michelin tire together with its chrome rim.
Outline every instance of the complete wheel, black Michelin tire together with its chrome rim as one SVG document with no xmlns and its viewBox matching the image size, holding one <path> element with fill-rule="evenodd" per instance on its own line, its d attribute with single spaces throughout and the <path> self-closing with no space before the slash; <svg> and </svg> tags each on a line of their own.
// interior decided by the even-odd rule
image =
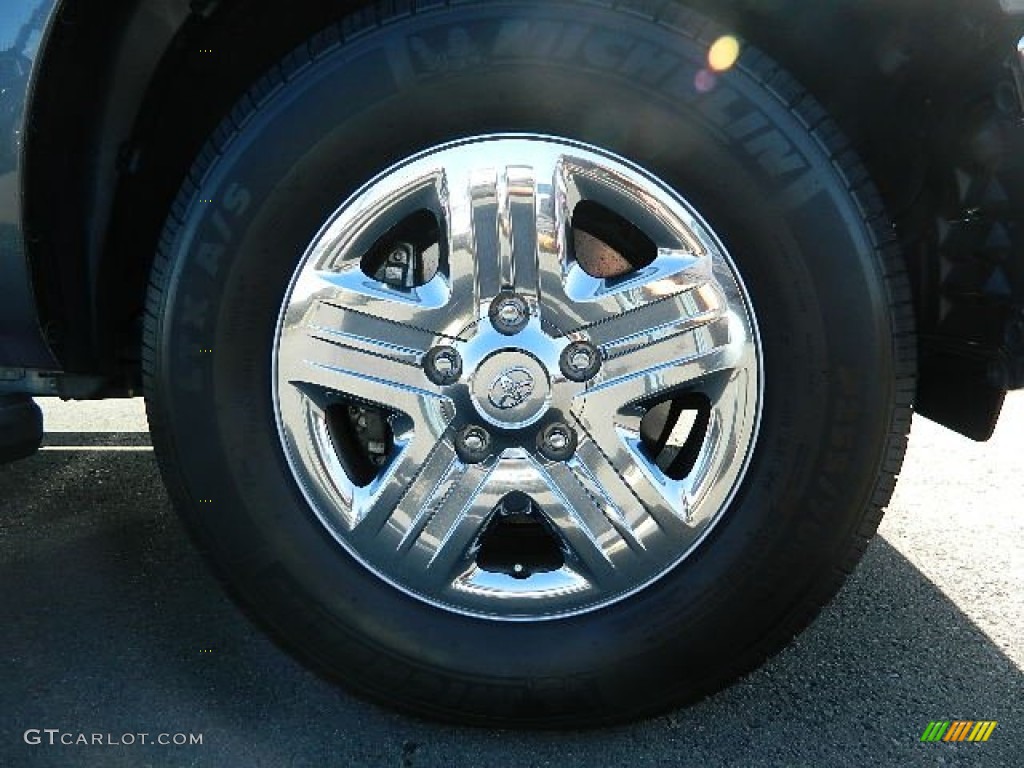
<svg viewBox="0 0 1024 768">
<path fill-rule="evenodd" d="M 769 58 L 744 46 L 734 67 L 712 74 L 707 55 L 720 31 L 671 3 L 655 19 L 649 5 L 423 3 L 398 17 L 382 3 L 348 17 L 252 88 L 170 213 L 153 267 L 143 362 L 172 498 L 248 612 L 313 668 L 374 700 L 430 718 L 528 727 L 621 722 L 697 700 L 810 622 L 859 559 L 892 493 L 910 421 L 914 343 L 900 258 L 871 183 L 820 108 Z M 575 249 L 587 276 L 574 274 L 593 291 L 572 293 L 545 276 L 553 257 L 540 237 L 540 303 L 528 294 L 520 305 L 467 315 L 475 317 L 468 326 L 447 322 L 450 307 L 478 308 L 464 300 L 467 286 L 498 286 L 480 275 L 525 248 L 501 237 L 488 248 L 482 236 L 467 246 L 458 224 L 467 211 L 506 206 L 519 232 L 515 211 L 543 213 L 541 201 L 562 210 L 558 184 L 540 184 L 545 177 L 529 176 L 528 162 L 526 171 L 515 165 L 520 157 L 573 158 L 569 186 L 593 211 L 569 211 L 561 253 L 567 263 Z M 423 194 L 434 197 L 416 198 L 409 178 L 431 163 L 451 163 L 445 173 L 455 174 L 481 158 L 472 167 L 489 193 L 468 208 L 458 195 L 445 202 L 458 184 L 430 181 Z M 487 175 L 497 173 L 492 161 L 504 164 L 507 183 Z M 532 179 L 526 191 L 520 173 Z M 406 197 L 388 197 L 399 187 Z M 397 216 L 389 206 L 399 198 L 415 203 L 401 203 L 408 220 L 375 218 Z M 515 208 L 523 200 L 532 207 Z M 544 236 L 537 222 L 548 220 L 537 215 L 534 232 Z M 426 229 L 409 234 L 410 221 Z M 430 237 L 417 240 L 431 221 L 433 256 Z M 451 243 L 450 229 L 459 236 Z M 676 250 L 650 250 L 666 238 L 679 241 Z M 366 254 L 361 273 L 356 252 Z M 467 252 L 477 284 L 460 282 L 454 266 L 470 263 Z M 407 256 L 415 268 L 406 268 Z M 679 259 L 689 266 L 673 271 Z M 335 262 L 341 271 L 331 271 Z M 323 293 L 327 284 L 334 288 Z M 665 286 L 690 298 L 654 301 L 651 292 Z M 390 304 L 374 303 L 385 293 Z M 636 309 L 640 336 L 616 326 L 628 313 L 595 298 L 605 294 Z M 337 296 L 344 300 L 334 306 Z M 654 321 L 651 307 L 676 311 L 667 302 L 679 302 L 688 312 L 705 300 L 714 315 L 707 325 Z M 382 306 L 393 312 L 384 316 Z M 573 328 L 584 330 L 570 334 L 566 316 L 577 309 L 610 325 L 578 318 Z M 506 319 L 529 330 L 517 337 L 516 328 L 500 328 Z M 399 341 L 382 344 L 375 329 L 389 321 L 406 325 Z M 612 329 L 605 335 L 615 344 L 641 341 L 605 347 L 602 329 Z M 666 329 L 679 331 L 672 339 L 692 359 L 705 359 L 702 345 L 717 344 L 719 332 L 731 351 L 721 370 L 709 362 L 694 374 L 691 357 L 665 343 Z M 507 341 L 496 341 L 499 331 Z M 570 335 L 584 355 L 555 360 Z M 302 368 L 307 347 L 295 339 L 317 350 L 333 340 L 327 361 L 308 368 L 340 378 Z M 426 368 L 438 339 L 462 356 Z M 473 339 L 490 346 L 481 353 Z M 520 356 L 481 373 L 496 349 Z M 595 351 L 596 373 L 587 371 Z M 460 362 L 459 381 L 468 383 L 450 386 Z M 584 381 L 573 384 L 571 372 L 554 370 L 560 365 L 577 366 Z M 650 387 L 643 393 L 651 398 L 606 409 L 596 393 L 614 390 L 630 366 L 643 369 L 631 381 Z M 545 387 L 547 400 L 537 394 Z M 563 396 L 597 404 L 581 417 L 574 406 L 555 408 Z M 679 412 L 692 416 L 682 438 L 666 434 Z M 568 432 L 542 435 L 553 422 Z M 602 453 L 614 442 L 608 424 L 623 430 L 611 457 Z M 465 431 L 474 425 L 489 442 Z M 435 428 L 435 453 L 420 456 L 413 473 L 401 457 Z M 637 434 L 634 442 L 624 436 Z M 481 480 L 511 445 L 520 452 L 501 454 L 502 462 L 518 456 L 516 467 L 531 468 L 521 486 L 497 470 Z M 663 466 L 667 446 L 675 458 Z M 682 470 L 672 469 L 680 462 Z M 410 481 L 404 497 L 381 479 L 393 467 L 390 477 Z M 579 486 L 569 489 L 568 475 Z M 683 485 L 669 479 L 690 482 L 699 498 L 673 496 L 692 507 L 659 507 L 645 496 L 656 485 L 650 477 L 673 494 Z M 470 480 L 483 490 L 451 513 L 456 522 L 438 528 L 443 537 L 425 537 Z M 492 482 L 508 492 L 500 503 L 484 493 Z M 618 504 L 630 483 L 642 505 Z M 484 502 L 494 511 L 480 512 Z M 380 536 L 394 535 L 420 559 L 409 565 L 368 543 L 358 532 L 364 512 L 383 515 Z M 604 573 L 587 549 L 597 540 L 618 575 L 594 575 Z M 436 560 L 451 573 L 468 569 L 434 580 Z M 570 582 L 583 586 L 557 587 Z M 557 589 L 545 591 L 551 584 Z"/>
</svg>

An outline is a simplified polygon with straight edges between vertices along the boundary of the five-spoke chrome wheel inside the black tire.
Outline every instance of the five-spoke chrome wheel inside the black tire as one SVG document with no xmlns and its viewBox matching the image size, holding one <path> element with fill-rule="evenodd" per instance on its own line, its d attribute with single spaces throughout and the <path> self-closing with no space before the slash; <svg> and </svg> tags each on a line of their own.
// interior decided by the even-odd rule
<svg viewBox="0 0 1024 768">
<path fill-rule="evenodd" d="M 585 269 L 584 201 L 649 238 L 649 263 Z M 429 279 L 368 273 L 368 252 L 422 211 L 440 232 Z M 581 370 L 587 350 L 599 359 L 574 381 L 580 350 Z M 624 159 L 534 135 L 435 147 L 345 202 L 295 273 L 273 364 L 285 455 L 337 542 L 421 600 L 498 620 L 593 610 L 686 558 L 742 479 L 762 401 L 751 304 L 696 211 Z M 677 440 L 678 476 L 641 435 L 683 393 L 707 412 Z M 384 414 L 372 476 L 332 427 L 338 408 Z M 489 555 L 507 520 L 547 554 L 503 539 Z"/>
</svg>

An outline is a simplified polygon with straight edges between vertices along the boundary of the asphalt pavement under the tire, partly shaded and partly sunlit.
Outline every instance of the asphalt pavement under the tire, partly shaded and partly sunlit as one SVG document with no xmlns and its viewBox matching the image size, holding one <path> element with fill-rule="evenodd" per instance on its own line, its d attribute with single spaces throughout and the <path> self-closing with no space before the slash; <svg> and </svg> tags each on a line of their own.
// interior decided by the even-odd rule
<svg viewBox="0 0 1024 768">
<path fill-rule="evenodd" d="M 46 413 L 45 450 L 0 467 L 0 766 L 1024 765 L 1024 393 L 987 444 L 915 421 L 881 535 L 767 666 L 583 733 L 438 726 L 325 683 L 208 574 L 139 402 Z M 923 743 L 936 720 L 998 724 Z"/>
</svg>

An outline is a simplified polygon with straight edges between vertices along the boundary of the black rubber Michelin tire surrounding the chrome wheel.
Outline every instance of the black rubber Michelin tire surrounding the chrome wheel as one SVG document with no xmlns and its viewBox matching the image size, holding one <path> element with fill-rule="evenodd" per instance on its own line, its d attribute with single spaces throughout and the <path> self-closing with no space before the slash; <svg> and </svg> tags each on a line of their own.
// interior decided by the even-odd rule
<svg viewBox="0 0 1024 768">
<path fill-rule="evenodd" d="M 249 612 L 375 700 L 534 727 L 693 701 L 807 625 L 892 493 L 914 341 L 871 183 L 754 48 L 696 89 L 720 32 L 675 3 L 400 5 L 344 19 L 256 84 L 173 207 L 143 350 L 171 495 Z M 377 579 L 312 514 L 274 425 L 275 322 L 321 225 L 391 164 L 487 132 L 586 141 L 673 184 L 730 250 L 763 342 L 760 437 L 712 535 L 647 589 L 557 621 L 458 615 Z"/>
</svg>

